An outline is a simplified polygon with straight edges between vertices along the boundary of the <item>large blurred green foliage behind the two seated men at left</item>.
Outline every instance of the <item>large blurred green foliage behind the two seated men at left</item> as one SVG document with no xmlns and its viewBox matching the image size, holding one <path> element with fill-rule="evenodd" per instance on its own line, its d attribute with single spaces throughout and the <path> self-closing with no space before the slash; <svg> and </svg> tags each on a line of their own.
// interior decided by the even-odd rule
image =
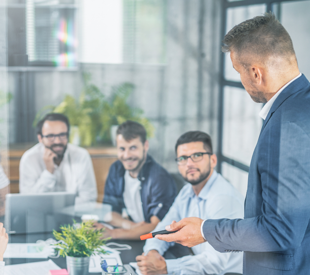
<svg viewBox="0 0 310 275">
<path fill-rule="evenodd" d="M 84 88 L 78 100 L 72 95 L 65 95 L 58 105 L 43 107 L 35 117 L 33 126 L 47 113 L 62 113 L 68 117 L 71 127 L 79 129 L 82 146 L 91 146 L 99 142 L 111 142 L 110 129 L 126 120 L 139 122 L 147 130 L 148 137 L 153 137 L 154 126 L 145 117 L 143 110 L 131 108 L 127 99 L 134 89 L 131 83 L 123 83 L 112 88 L 111 95 L 106 99 L 103 93 L 91 84 L 91 75 L 84 74 Z M 72 132 L 72 130 L 71 130 Z M 72 141 L 72 136 L 70 137 Z"/>
</svg>

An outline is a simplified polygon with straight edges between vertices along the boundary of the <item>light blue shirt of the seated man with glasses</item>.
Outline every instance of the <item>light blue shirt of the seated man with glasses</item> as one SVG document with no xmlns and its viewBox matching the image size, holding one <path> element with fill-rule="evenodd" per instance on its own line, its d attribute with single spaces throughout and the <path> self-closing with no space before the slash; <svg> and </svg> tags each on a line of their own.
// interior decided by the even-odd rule
<svg viewBox="0 0 310 275">
<path fill-rule="evenodd" d="M 179 221 L 185 217 L 199 217 L 201 219 L 243 218 L 244 198 L 241 193 L 228 183 L 215 170 L 209 181 L 202 188 L 198 196 L 192 185 L 187 183 L 176 197 L 168 213 L 154 230 L 165 229 L 173 220 Z M 167 243 L 155 238 L 146 241 L 144 252 L 157 250 L 164 252 L 174 243 Z M 191 248 L 194 255 L 178 259 L 166 260 L 168 274 L 218 274 L 227 272 L 242 273 L 243 252 L 220 253 L 208 242 Z"/>
</svg>

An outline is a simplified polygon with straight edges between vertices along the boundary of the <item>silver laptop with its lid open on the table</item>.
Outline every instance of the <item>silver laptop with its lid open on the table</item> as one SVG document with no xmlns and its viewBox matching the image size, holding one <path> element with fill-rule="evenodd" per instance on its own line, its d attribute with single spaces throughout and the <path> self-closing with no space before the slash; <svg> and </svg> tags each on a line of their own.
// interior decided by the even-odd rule
<svg viewBox="0 0 310 275">
<path fill-rule="evenodd" d="M 74 205 L 75 193 L 7 194 L 5 199 L 4 223 L 9 234 L 52 232 L 72 224 L 73 216 L 62 210 Z"/>
</svg>

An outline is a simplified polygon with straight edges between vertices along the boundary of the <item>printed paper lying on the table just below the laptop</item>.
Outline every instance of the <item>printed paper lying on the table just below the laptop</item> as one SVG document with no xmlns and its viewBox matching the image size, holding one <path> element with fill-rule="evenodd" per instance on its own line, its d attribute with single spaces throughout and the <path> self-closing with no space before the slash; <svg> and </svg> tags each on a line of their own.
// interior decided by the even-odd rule
<svg viewBox="0 0 310 275">
<path fill-rule="evenodd" d="M 7 244 L 3 258 L 36 258 L 47 259 L 53 252 L 53 247 L 40 244 Z"/>
</svg>

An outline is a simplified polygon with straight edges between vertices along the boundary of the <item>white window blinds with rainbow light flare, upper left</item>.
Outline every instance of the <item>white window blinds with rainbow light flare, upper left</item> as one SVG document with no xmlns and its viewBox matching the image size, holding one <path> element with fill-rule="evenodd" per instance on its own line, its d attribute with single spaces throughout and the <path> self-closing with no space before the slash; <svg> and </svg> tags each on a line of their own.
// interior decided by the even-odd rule
<svg viewBox="0 0 310 275">
<path fill-rule="evenodd" d="M 74 2 L 64 5 L 55 0 L 26 0 L 25 4 L 29 61 L 36 65 L 76 65 Z"/>
</svg>

